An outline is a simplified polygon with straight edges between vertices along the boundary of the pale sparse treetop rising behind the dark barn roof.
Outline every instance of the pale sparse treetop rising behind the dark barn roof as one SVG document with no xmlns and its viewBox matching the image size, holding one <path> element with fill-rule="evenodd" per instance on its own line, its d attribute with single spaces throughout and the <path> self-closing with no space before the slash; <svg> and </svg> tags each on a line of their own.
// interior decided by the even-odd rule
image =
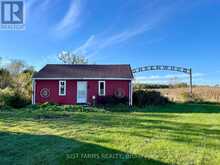
<svg viewBox="0 0 220 165">
<path fill-rule="evenodd" d="M 88 59 L 83 55 L 62 51 L 58 54 L 58 59 L 64 64 L 88 64 Z"/>
</svg>

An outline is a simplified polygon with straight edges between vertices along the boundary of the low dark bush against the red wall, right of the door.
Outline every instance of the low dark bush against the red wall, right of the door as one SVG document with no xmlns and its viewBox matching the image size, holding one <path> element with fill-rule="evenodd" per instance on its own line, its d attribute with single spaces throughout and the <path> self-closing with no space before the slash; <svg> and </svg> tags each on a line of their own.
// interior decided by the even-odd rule
<svg viewBox="0 0 220 165">
<path fill-rule="evenodd" d="M 102 96 L 98 97 L 99 105 L 117 105 L 128 104 L 128 97 L 117 98 L 115 96 Z"/>
</svg>

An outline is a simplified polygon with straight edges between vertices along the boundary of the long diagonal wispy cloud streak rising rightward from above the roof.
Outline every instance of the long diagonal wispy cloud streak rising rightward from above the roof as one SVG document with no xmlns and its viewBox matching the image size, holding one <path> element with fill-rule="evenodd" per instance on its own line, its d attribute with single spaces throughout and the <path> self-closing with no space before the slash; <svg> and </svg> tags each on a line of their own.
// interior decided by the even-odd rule
<svg viewBox="0 0 220 165">
<path fill-rule="evenodd" d="M 169 17 L 175 7 L 175 5 L 166 4 L 164 6 L 162 5 L 157 7 L 155 10 L 155 6 L 151 5 L 151 9 L 148 9 L 151 10 L 151 12 L 137 15 L 135 21 L 131 21 L 131 25 L 128 25 L 127 28 L 124 28 L 116 33 L 104 31 L 91 35 L 87 41 L 76 48 L 74 52 L 78 52 L 80 50 L 84 54 L 88 55 L 88 57 L 92 57 L 102 49 L 123 43 L 131 38 L 154 29 L 157 25 Z M 114 27 L 114 22 L 111 22 L 111 26 Z M 155 39 L 152 40 L 152 42 L 155 42 Z M 152 42 L 151 39 L 149 39 L 146 44 L 151 44 Z"/>
</svg>

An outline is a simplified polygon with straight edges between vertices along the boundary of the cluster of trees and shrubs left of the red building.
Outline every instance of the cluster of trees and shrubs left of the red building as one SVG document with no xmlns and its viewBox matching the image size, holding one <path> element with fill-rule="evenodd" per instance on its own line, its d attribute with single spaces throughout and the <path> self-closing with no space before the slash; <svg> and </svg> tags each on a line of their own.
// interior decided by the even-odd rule
<svg viewBox="0 0 220 165">
<path fill-rule="evenodd" d="M 10 104 L 11 100 L 31 102 L 32 82 L 35 73 L 34 67 L 22 60 L 10 60 L 0 65 L 0 106 Z M 16 101 L 16 100 L 15 100 Z M 10 103 L 9 103 L 10 102 Z"/>
</svg>

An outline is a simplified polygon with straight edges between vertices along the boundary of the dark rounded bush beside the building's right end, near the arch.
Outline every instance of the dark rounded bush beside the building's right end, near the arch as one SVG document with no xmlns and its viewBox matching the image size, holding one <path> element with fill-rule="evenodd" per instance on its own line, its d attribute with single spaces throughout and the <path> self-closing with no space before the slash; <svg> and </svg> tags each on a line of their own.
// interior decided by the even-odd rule
<svg viewBox="0 0 220 165">
<path fill-rule="evenodd" d="M 168 98 L 157 91 L 135 91 L 133 93 L 133 104 L 138 107 L 146 105 L 165 105 L 169 103 Z"/>
</svg>

